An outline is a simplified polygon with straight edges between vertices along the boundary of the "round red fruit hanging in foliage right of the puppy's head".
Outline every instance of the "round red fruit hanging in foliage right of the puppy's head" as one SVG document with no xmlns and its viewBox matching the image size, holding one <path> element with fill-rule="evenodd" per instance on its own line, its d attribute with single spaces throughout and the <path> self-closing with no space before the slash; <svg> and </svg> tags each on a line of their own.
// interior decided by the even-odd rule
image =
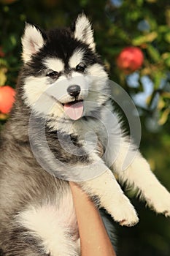
<svg viewBox="0 0 170 256">
<path fill-rule="evenodd" d="M 117 57 L 117 66 L 124 72 L 134 72 L 142 67 L 144 55 L 140 48 L 129 46 L 124 48 Z"/>
</svg>

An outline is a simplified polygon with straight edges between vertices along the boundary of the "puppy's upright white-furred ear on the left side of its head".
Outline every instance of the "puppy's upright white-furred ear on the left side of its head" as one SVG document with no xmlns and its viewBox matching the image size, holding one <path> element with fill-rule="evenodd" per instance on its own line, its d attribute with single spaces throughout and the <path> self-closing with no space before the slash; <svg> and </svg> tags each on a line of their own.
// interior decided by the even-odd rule
<svg viewBox="0 0 170 256">
<path fill-rule="evenodd" d="M 36 26 L 26 23 L 25 31 L 22 37 L 23 45 L 23 61 L 29 61 L 31 56 L 39 51 L 45 44 L 45 39 L 42 35 L 42 31 Z"/>
</svg>

